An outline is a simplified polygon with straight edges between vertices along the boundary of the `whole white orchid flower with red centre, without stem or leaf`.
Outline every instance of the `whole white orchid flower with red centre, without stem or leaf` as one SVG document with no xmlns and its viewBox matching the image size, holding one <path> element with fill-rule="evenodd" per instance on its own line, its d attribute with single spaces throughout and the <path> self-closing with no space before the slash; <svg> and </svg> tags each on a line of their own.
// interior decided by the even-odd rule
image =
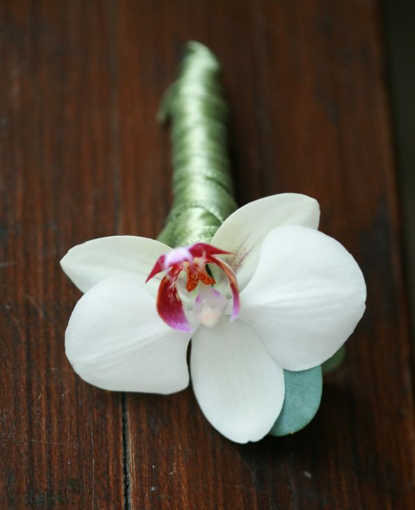
<svg viewBox="0 0 415 510">
<path fill-rule="evenodd" d="M 284 369 L 326 361 L 365 310 L 362 272 L 319 218 L 314 199 L 277 194 L 234 212 L 210 245 L 114 236 L 75 246 L 61 262 L 84 292 L 66 329 L 75 372 L 107 390 L 178 392 L 192 337 L 205 417 L 233 441 L 261 439 L 282 409 Z"/>
</svg>

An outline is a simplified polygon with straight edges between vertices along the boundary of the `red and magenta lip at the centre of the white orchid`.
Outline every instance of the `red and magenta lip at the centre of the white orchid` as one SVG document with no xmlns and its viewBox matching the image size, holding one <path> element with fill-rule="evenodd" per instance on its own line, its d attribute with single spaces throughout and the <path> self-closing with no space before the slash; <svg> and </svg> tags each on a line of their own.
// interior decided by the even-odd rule
<svg viewBox="0 0 415 510">
<path fill-rule="evenodd" d="M 187 277 L 186 291 L 192 292 L 196 287 L 199 293 L 194 302 L 194 313 L 202 325 L 213 327 L 225 310 L 226 298 L 212 286 L 216 284 L 208 273 L 206 266 L 214 264 L 221 268 L 228 277 L 232 293 L 232 314 L 230 320 L 237 318 L 239 313 L 239 289 L 237 277 L 232 268 L 217 255 L 230 255 L 230 252 L 215 248 L 210 244 L 197 243 L 192 246 L 174 248 L 165 255 L 158 257 L 146 282 L 152 277 L 167 271 L 160 282 L 157 295 L 157 311 L 167 325 L 178 331 L 194 331 L 185 315 L 183 302 L 178 294 L 178 277 L 185 272 Z"/>
</svg>

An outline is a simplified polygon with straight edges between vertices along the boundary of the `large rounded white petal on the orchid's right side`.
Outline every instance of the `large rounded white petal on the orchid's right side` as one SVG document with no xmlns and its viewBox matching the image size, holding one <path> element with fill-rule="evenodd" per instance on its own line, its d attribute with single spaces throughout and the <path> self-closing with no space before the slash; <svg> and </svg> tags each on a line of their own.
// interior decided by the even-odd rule
<svg viewBox="0 0 415 510">
<path fill-rule="evenodd" d="M 365 311 L 366 284 L 335 239 L 299 226 L 276 228 L 241 293 L 240 317 L 259 332 L 277 363 L 306 370 L 330 358 Z"/>
</svg>

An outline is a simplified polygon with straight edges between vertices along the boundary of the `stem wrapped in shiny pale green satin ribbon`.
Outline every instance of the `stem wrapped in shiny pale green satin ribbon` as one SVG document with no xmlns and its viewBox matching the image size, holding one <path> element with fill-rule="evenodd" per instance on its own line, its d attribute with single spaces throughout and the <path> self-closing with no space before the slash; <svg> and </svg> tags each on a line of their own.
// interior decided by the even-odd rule
<svg viewBox="0 0 415 510">
<path fill-rule="evenodd" d="M 158 236 L 169 246 L 210 242 L 237 208 L 228 154 L 230 111 L 220 78 L 214 54 L 189 42 L 158 113 L 172 127 L 174 201 Z"/>
</svg>

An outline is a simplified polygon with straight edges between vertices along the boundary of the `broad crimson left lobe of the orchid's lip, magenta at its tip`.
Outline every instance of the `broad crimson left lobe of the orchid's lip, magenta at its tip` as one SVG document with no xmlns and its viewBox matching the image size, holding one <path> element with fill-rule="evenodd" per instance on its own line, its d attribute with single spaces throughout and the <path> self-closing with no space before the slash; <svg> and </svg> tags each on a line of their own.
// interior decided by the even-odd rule
<svg viewBox="0 0 415 510">
<path fill-rule="evenodd" d="M 183 303 L 178 297 L 177 278 L 182 268 L 173 268 L 160 282 L 157 294 L 158 315 L 167 325 L 178 331 L 194 331 L 185 316 Z"/>
</svg>

